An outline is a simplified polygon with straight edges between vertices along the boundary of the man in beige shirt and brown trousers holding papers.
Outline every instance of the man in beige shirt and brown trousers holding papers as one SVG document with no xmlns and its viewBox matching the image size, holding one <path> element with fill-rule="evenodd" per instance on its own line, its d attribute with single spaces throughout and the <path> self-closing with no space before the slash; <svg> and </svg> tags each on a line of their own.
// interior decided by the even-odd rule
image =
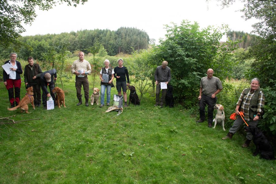
<svg viewBox="0 0 276 184">
<path fill-rule="evenodd" d="M 82 104 L 82 86 L 84 90 L 85 97 L 85 105 L 88 106 L 89 99 L 89 82 L 87 75 L 91 73 L 91 66 L 88 61 L 84 59 L 84 53 L 79 52 L 79 59 L 75 60 L 71 66 L 72 74 L 76 75 L 76 90 L 77 90 L 77 98 L 79 99 L 79 103 L 77 105 Z"/>
</svg>

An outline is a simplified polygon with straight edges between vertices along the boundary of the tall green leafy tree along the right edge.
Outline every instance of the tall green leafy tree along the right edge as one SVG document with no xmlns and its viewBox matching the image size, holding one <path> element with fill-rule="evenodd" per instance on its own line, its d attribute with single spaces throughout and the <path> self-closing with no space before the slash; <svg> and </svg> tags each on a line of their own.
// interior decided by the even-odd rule
<svg viewBox="0 0 276 184">
<path fill-rule="evenodd" d="M 217 0 L 223 7 L 236 0 Z M 276 1 L 275 0 L 240 0 L 244 3 L 240 11 L 247 19 L 256 18 L 259 22 L 252 25 L 253 33 L 260 36 L 259 42 L 253 45 L 244 58 L 253 58 L 251 67 L 246 72 L 247 79 L 258 77 L 266 96 L 263 130 L 276 134 Z"/>
</svg>

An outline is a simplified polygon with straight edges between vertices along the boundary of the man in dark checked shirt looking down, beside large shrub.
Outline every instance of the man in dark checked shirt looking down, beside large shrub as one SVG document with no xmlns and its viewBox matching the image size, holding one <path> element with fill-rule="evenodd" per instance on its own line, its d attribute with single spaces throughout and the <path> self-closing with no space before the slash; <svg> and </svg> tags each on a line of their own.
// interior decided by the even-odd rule
<svg viewBox="0 0 276 184">
<path fill-rule="evenodd" d="M 167 89 L 162 89 L 162 97 L 160 102 L 160 99 L 159 99 L 159 94 L 161 91 L 160 82 L 166 82 L 166 84 L 168 84 L 171 81 L 171 68 L 168 67 L 167 61 L 163 61 L 162 65 L 156 68 L 154 79 L 156 84 L 156 92 L 155 92 L 156 103 L 154 106 L 158 106 L 160 104 L 160 107 L 162 108 L 163 104 L 165 104 Z"/>
</svg>

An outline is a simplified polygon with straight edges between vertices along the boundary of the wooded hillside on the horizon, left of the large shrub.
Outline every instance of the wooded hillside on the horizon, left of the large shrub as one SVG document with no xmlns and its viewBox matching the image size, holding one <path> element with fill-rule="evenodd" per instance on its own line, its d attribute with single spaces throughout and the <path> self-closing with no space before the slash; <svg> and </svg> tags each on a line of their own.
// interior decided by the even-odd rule
<svg viewBox="0 0 276 184">
<path fill-rule="evenodd" d="M 7 57 L 9 52 L 16 51 L 21 58 L 33 56 L 34 59 L 43 60 L 43 52 L 49 47 L 58 47 L 69 43 L 67 49 L 74 53 L 83 51 L 88 54 L 87 48 L 100 42 L 109 56 L 119 53 L 131 54 L 133 50 L 147 49 L 150 41 L 148 34 L 140 29 L 121 27 L 116 31 L 109 29 L 81 30 L 77 32 L 23 36 L 17 39 L 21 44 L 0 45 L 0 56 Z"/>
</svg>

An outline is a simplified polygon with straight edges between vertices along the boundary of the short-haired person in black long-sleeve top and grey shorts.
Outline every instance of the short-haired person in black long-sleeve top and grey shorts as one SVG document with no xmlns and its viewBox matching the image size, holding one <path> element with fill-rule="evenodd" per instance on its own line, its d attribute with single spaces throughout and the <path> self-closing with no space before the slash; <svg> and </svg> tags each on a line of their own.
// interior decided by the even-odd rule
<svg viewBox="0 0 276 184">
<path fill-rule="evenodd" d="M 118 59 L 118 65 L 114 68 L 114 77 L 116 78 L 116 88 L 118 95 L 122 95 L 121 89 L 123 89 L 123 96 L 125 100 L 125 107 L 127 106 L 126 86 L 129 85 L 128 69 L 123 66 L 123 59 Z M 126 83 L 126 79 L 128 82 Z"/>
</svg>

